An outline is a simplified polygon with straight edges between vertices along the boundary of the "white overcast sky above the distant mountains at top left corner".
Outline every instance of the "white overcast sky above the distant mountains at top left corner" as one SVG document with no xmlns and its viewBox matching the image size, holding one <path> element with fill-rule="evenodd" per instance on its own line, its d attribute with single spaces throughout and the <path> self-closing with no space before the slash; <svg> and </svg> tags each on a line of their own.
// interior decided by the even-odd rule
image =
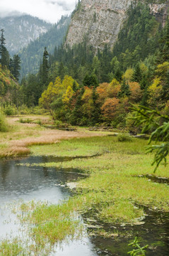
<svg viewBox="0 0 169 256">
<path fill-rule="evenodd" d="M 30 14 L 45 21 L 57 23 L 62 15 L 74 10 L 77 0 L 0 0 L 0 16 L 11 11 Z"/>
</svg>

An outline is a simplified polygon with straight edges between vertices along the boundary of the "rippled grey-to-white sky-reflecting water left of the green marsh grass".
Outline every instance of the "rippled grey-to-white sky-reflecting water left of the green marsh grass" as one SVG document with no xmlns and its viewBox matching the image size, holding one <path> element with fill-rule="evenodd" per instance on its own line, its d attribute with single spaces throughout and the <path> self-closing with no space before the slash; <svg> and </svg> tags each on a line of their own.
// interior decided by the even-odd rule
<svg viewBox="0 0 169 256">
<path fill-rule="evenodd" d="M 17 159 L 14 161 L 0 162 L 0 238 L 20 235 L 22 227 L 15 214 L 11 213 L 11 207 L 16 202 L 31 200 L 48 201 L 57 204 L 69 198 L 69 189 L 64 186 L 68 181 L 75 181 L 81 177 L 76 170 L 61 171 L 59 169 L 48 169 L 47 167 L 26 167 L 17 164 L 42 163 L 47 159 L 42 157 L 30 157 L 28 159 Z M 48 159 L 49 161 L 49 159 Z M 79 172 L 79 171 L 78 171 Z M 10 205 L 12 203 L 12 206 Z M 87 237 L 83 241 L 70 241 L 57 252 L 51 255 L 79 255 L 97 254 L 93 251 L 93 245 Z"/>
</svg>

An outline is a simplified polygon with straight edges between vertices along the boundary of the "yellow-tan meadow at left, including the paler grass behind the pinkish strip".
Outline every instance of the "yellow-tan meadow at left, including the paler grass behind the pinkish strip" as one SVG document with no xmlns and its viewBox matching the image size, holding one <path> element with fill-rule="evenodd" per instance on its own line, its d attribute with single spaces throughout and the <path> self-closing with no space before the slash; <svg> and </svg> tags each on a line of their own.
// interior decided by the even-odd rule
<svg viewBox="0 0 169 256">
<path fill-rule="evenodd" d="M 56 144 L 62 139 L 93 136 L 93 132 L 86 129 L 78 129 L 77 132 L 47 129 L 44 125 L 52 121 L 42 115 L 8 117 L 7 122 L 7 132 L 0 132 L 0 159 L 28 155 L 32 145 Z"/>
</svg>

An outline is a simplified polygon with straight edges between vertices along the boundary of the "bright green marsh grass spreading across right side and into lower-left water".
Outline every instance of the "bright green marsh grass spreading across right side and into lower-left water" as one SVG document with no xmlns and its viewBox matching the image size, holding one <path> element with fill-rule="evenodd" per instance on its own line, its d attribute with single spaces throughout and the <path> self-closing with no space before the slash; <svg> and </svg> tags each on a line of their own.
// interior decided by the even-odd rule
<svg viewBox="0 0 169 256">
<path fill-rule="evenodd" d="M 69 220 L 69 216 L 74 211 L 79 214 L 90 212 L 93 219 L 121 224 L 141 224 L 145 218 L 144 206 L 152 210 L 168 211 L 169 186 L 137 177 L 153 172 L 151 166 L 153 155 L 145 154 L 146 143 L 141 139 L 132 139 L 132 141 L 123 143 L 119 142 L 117 137 L 91 137 L 31 147 L 35 155 L 40 152 L 55 156 L 101 154 L 88 159 L 79 158 L 62 163 L 40 164 L 63 169 L 81 169 L 90 176 L 78 181 L 76 195 L 66 203 L 60 206 L 45 206 L 45 208 L 40 206 L 33 211 L 29 221 L 33 220 L 33 223 L 37 225 L 35 228 L 37 240 L 39 234 L 41 238 L 47 238 L 51 242 L 54 242 L 53 239 L 56 240 L 56 238 L 64 239 L 66 233 L 69 234 L 70 223 L 64 223 L 64 227 L 67 227 L 65 230 L 64 227 L 55 230 L 55 223 L 59 220 L 59 216 L 64 216 Z M 161 166 L 156 175 L 169 176 L 168 166 L 165 169 Z M 75 227 L 73 224 L 71 228 L 73 233 L 77 230 L 76 223 Z M 64 235 L 60 236 L 59 233 Z"/>
</svg>

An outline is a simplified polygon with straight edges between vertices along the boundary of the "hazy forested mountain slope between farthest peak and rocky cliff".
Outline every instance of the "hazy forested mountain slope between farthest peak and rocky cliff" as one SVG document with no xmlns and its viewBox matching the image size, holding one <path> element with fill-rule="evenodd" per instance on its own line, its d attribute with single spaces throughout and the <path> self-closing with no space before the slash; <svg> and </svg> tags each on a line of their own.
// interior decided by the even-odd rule
<svg viewBox="0 0 169 256">
<path fill-rule="evenodd" d="M 28 73 L 35 74 L 38 72 L 44 48 L 47 47 L 48 53 L 53 53 L 54 48 L 62 44 L 70 21 L 70 16 L 62 16 L 60 21 L 49 31 L 42 33 L 39 38 L 31 41 L 18 53 L 21 58 L 21 78 Z"/>
</svg>

